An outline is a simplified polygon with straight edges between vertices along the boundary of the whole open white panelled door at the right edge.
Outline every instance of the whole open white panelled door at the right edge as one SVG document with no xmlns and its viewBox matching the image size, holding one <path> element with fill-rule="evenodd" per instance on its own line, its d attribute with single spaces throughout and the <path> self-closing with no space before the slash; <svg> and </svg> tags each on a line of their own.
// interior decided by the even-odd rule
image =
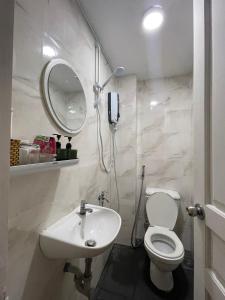
<svg viewBox="0 0 225 300">
<path fill-rule="evenodd" d="M 225 0 L 194 0 L 195 300 L 225 299 Z"/>
</svg>

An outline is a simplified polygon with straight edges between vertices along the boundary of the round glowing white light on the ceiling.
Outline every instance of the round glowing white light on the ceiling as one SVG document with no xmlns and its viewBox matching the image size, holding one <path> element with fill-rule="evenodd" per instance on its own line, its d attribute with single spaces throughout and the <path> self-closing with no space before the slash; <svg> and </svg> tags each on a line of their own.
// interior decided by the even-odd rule
<svg viewBox="0 0 225 300">
<path fill-rule="evenodd" d="M 155 5 L 144 14 L 142 26 L 147 31 L 153 31 L 162 25 L 163 20 L 162 7 Z"/>
</svg>

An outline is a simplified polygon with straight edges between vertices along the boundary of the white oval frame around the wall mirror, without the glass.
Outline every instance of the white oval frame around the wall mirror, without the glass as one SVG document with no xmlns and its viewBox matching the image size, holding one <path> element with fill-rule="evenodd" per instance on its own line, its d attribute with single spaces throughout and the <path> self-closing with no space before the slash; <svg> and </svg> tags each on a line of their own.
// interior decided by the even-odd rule
<svg viewBox="0 0 225 300">
<path fill-rule="evenodd" d="M 85 122 L 86 122 L 86 119 L 87 119 L 87 97 L 86 97 L 86 94 L 85 94 L 85 91 L 84 91 L 84 87 L 80 81 L 80 84 L 81 84 L 81 87 L 83 89 L 83 92 L 84 92 L 84 96 L 85 96 L 85 105 L 86 105 L 86 112 L 85 112 L 85 118 L 84 118 L 84 121 L 83 123 L 81 124 L 81 126 L 76 129 L 76 130 L 73 130 L 73 129 L 69 129 L 67 126 L 65 126 L 61 121 L 60 119 L 58 118 L 57 114 L 55 113 L 54 111 L 54 108 L 52 106 L 52 103 L 51 103 L 51 98 L 50 98 L 50 95 L 49 95 L 49 88 L 48 88 L 48 82 L 49 82 L 49 76 L 50 76 L 50 73 L 52 71 L 52 69 L 58 65 L 58 64 L 63 64 L 63 65 L 66 65 L 67 67 L 69 67 L 70 69 L 72 69 L 72 71 L 76 74 L 78 80 L 80 81 L 78 75 L 77 75 L 77 72 L 74 70 L 73 66 L 71 64 L 69 64 L 66 60 L 64 59 L 60 59 L 60 58 L 55 58 L 55 59 L 52 59 L 50 60 L 46 67 L 44 68 L 43 70 L 43 76 L 42 76 L 42 92 L 43 92 L 43 96 L 44 96 L 44 100 L 45 100 L 45 104 L 46 104 L 46 107 L 47 107 L 47 111 L 49 113 L 49 116 L 51 117 L 51 119 L 54 121 L 55 125 L 58 126 L 58 128 L 63 131 L 63 133 L 66 133 L 66 134 L 70 134 L 70 135 L 75 135 L 77 133 L 79 133 L 82 128 L 84 127 L 85 125 Z"/>
</svg>

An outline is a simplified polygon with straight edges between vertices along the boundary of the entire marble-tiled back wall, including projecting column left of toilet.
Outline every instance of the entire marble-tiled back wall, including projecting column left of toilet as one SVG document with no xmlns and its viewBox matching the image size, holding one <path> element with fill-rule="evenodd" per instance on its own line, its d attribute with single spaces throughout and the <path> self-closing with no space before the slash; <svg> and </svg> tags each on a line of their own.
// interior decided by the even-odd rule
<svg viewBox="0 0 225 300">
<path fill-rule="evenodd" d="M 148 81 L 127 76 L 117 80 L 117 91 L 121 118 L 116 133 L 116 165 L 123 220 L 118 242 L 130 244 L 141 167 L 145 165 L 145 186 L 171 188 L 181 194 L 176 231 L 185 249 L 192 250 L 192 221 L 185 212 L 185 206 L 192 203 L 193 191 L 192 75 Z M 113 180 L 112 174 L 116 204 Z M 143 236 L 145 199 L 142 204 L 140 236 Z"/>
</svg>

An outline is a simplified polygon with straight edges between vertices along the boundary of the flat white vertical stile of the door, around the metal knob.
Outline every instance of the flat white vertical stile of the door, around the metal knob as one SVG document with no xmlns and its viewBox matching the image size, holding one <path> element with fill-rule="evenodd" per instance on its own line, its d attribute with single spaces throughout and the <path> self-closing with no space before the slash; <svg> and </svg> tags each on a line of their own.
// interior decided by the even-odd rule
<svg viewBox="0 0 225 300">
<path fill-rule="evenodd" d="M 211 1 L 194 0 L 194 203 L 210 203 Z M 205 267 L 209 241 L 205 222 L 194 220 L 194 299 L 208 298 Z"/>
</svg>

